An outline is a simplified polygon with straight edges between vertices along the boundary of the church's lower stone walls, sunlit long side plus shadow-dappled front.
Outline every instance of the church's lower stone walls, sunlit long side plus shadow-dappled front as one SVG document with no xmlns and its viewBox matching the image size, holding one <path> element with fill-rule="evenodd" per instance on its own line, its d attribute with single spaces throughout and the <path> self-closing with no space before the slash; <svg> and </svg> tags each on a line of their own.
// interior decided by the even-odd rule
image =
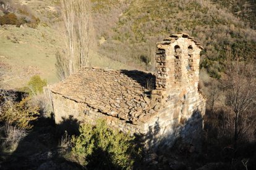
<svg viewBox="0 0 256 170">
<path fill-rule="evenodd" d="M 67 131 L 69 134 L 78 134 L 80 124 L 95 124 L 96 119 L 103 118 L 106 119 L 109 127 L 125 133 L 130 132 L 130 136 L 136 137 L 135 140 L 139 146 L 148 150 L 149 148 L 171 147 L 178 137 L 197 146 L 202 132 L 203 121 L 200 115 L 205 108 L 202 102 L 191 104 L 191 110 L 198 110 L 192 113 L 186 124 L 178 123 L 172 108 L 160 111 L 148 123 L 131 124 L 125 120 L 105 115 L 97 109 L 88 108 L 85 103 L 67 100 L 59 94 L 52 93 L 52 97 L 58 133 Z"/>
</svg>

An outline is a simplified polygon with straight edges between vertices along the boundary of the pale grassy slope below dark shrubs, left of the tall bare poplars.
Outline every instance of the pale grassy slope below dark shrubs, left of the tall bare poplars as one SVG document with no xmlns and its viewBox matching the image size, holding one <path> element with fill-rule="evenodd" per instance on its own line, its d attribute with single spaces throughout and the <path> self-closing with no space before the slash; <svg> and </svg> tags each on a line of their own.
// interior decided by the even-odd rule
<svg viewBox="0 0 256 170">
<path fill-rule="evenodd" d="M 25 85 L 28 78 L 35 74 L 47 78 L 51 83 L 58 81 L 54 67 L 54 51 L 59 46 L 56 31 L 44 26 L 37 29 L 0 28 L 0 43 L 1 62 L 11 67 L 6 80 L 22 77 L 8 81 L 9 84 Z"/>
</svg>

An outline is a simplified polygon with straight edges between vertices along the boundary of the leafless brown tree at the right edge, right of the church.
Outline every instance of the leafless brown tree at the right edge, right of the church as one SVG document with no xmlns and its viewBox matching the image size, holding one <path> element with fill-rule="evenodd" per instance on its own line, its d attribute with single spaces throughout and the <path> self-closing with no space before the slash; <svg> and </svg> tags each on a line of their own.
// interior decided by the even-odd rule
<svg viewBox="0 0 256 170">
<path fill-rule="evenodd" d="M 226 104 L 234 113 L 234 149 L 237 149 L 237 140 L 250 131 L 247 136 L 255 132 L 255 99 L 256 99 L 256 72 L 255 62 L 227 63 L 227 77 L 223 83 L 226 86 Z"/>
</svg>

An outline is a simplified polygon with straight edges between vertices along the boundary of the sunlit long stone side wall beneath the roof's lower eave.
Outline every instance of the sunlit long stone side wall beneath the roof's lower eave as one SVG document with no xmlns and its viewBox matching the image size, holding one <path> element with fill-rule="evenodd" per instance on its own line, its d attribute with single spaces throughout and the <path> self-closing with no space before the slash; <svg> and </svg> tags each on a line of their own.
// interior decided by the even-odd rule
<svg viewBox="0 0 256 170">
<path fill-rule="evenodd" d="M 102 118 L 106 119 L 109 127 L 114 127 L 125 133 L 130 131 L 130 136 L 140 134 L 143 137 L 147 134 L 145 124 L 127 123 L 124 119 L 103 114 L 98 109 L 90 108 L 83 102 L 66 99 L 59 94 L 52 93 L 52 98 L 58 133 L 67 131 L 69 134 L 78 134 L 79 125 L 85 123 L 96 124 L 96 119 Z"/>
</svg>

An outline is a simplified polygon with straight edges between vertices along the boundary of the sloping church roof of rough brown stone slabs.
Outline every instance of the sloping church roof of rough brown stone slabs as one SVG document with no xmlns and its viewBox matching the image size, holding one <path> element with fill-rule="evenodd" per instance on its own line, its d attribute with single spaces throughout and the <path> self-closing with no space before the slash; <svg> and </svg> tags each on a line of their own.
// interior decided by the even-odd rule
<svg viewBox="0 0 256 170">
<path fill-rule="evenodd" d="M 51 91 L 135 123 L 147 121 L 160 109 L 160 105 L 151 105 L 147 83 L 155 84 L 152 81 L 154 75 L 143 71 L 85 67 L 55 84 Z"/>
</svg>

